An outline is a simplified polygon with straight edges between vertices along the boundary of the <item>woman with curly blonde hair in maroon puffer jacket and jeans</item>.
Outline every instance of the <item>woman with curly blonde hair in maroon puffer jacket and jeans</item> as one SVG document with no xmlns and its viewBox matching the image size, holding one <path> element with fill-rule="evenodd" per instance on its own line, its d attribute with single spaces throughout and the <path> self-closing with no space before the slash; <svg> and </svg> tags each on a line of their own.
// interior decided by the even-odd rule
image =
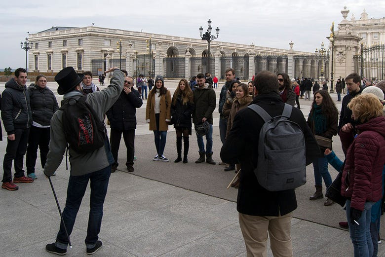
<svg viewBox="0 0 385 257">
<path fill-rule="evenodd" d="M 342 174 L 341 194 L 347 199 L 346 218 L 354 257 L 372 257 L 372 206 L 383 195 L 385 117 L 383 105 L 371 93 L 354 97 L 347 107 L 352 111 L 357 135 L 353 137 L 353 126 L 350 123 L 340 131 L 341 142 L 349 146 Z"/>
</svg>

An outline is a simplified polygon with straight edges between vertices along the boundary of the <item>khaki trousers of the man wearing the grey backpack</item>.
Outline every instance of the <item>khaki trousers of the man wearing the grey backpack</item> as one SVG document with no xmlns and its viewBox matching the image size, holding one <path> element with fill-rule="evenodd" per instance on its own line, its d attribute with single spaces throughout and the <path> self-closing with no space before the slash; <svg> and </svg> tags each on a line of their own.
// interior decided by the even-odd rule
<svg viewBox="0 0 385 257">
<path fill-rule="evenodd" d="M 239 213 L 247 257 L 267 257 L 268 237 L 274 257 L 293 257 L 290 235 L 292 215 L 261 217 Z"/>
</svg>

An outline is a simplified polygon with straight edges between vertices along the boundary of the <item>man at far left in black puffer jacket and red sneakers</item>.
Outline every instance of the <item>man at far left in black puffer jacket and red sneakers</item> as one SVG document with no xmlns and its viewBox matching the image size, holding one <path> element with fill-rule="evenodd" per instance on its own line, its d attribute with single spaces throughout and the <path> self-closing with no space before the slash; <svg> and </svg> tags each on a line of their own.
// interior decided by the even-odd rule
<svg viewBox="0 0 385 257">
<path fill-rule="evenodd" d="M 2 188 L 17 190 L 14 183 L 32 183 L 33 179 L 24 176 L 23 159 L 27 149 L 28 136 L 32 125 L 30 95 L 26 90 L 27 71 L 18 68 L 15 77 L 5 83 L 1 98 L 1 118 L 8 134 L 8 143 L 3 161 L 4 175 Z M 15 177 L 12 182 L 12 161 L 14 160 Z"/>
</svg>

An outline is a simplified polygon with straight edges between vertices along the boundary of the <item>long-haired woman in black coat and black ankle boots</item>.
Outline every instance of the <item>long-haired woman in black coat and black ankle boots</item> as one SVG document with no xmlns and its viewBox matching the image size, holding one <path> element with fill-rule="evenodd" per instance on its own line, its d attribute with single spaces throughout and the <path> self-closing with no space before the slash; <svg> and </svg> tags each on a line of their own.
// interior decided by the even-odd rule
<svg viewBox="0 0 385 257">
<path fill-rule="evenodd" d="M 176 146 L 178 157 L 174 162 L 182 160 L 183 136 L 183 163 L 187 163 L 189 153 L 189 135 L 192 131 L 192 113 L 194 112 L 193 94 L 186 79 L 181 79 L 172 97 L 171 115 L 177 136 Z"/>
</svg>

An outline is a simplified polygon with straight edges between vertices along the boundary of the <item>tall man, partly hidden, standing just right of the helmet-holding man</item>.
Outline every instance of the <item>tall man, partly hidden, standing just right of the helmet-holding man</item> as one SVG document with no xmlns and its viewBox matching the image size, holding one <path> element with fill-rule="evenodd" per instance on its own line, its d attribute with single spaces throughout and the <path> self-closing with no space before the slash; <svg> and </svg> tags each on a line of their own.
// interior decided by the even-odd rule
<svg viewBox="0 0 385 257">
<path fill-rule="evenodd" d="M 226 102 L 226 92 L 230 88 L 230 84 L 232 81 L 235 80 L 235 70 L 234 69 L 227 69 L 225 72 L 226 82 L 222 86 L 221 93 L 219 94 L 219 136 L 221 137 L 222 145 L 225 144 L 225 138 L 226 138 L 226 131 L 227 131 L 227 120 L 228 117 L 225 117 L 223 115 L 223 106 Z M 226 165 L 225 162 L 221 161 L 219 165 Z"/>
</svg>

